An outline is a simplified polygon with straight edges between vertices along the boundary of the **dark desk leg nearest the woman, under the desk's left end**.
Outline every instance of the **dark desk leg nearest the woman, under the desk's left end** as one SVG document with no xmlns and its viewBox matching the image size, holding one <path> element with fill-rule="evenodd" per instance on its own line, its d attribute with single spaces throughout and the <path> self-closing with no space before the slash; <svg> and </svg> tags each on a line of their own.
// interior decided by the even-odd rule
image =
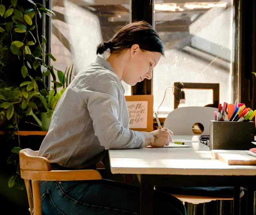
<svg viewBox="0 0 256 215">
<path fill-rule="evenodd" d="M 140 183 L 141 183 L 140 214 L 153 215 L 154 185 L 152 185 L 147 175 L 141 175 Z"/>
</svg>

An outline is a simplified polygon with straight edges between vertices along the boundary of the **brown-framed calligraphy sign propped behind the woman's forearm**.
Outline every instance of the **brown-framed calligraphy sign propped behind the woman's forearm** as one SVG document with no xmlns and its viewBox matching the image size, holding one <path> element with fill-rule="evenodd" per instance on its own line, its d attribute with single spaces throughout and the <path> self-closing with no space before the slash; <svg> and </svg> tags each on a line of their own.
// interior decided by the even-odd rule
<svg viewBox="0 0 256 215">
<path fill-rule="evenodd" d="M 153 131 L 153 95 L 125 96 L 130 129 L 134 131 Z"/>
</svg>

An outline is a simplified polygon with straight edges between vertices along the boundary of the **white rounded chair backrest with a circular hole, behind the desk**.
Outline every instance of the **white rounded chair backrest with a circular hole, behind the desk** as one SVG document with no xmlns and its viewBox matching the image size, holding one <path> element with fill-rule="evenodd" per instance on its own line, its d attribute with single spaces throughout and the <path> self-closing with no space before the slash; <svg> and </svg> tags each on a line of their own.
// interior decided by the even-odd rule
<svg viewBox="0 0 256 215">
<path fill-rule="evenodd" d="M 192 127 L 195 123 L 201 123 L 204 126 L 204 131 L 200 135 L 209 135 L 210 120 L 214 120 L 214 111 L 218 111 L 218 108 L 176 108 L 166 117 L 164 127 L 171 130 L 174 135 L 196 135 L 193 133 Z"/>
</svg>

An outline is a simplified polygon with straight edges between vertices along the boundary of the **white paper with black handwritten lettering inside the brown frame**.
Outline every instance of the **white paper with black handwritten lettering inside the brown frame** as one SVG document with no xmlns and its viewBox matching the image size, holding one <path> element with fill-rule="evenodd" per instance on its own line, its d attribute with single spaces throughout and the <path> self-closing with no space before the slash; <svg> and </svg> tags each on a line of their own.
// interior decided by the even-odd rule
<svg viewBox="0 0 256 215">
<path fill-rule="evenodd" d="M 147 101 L 127 102 L 130 128 L 147 128 Z"/>
</svg>

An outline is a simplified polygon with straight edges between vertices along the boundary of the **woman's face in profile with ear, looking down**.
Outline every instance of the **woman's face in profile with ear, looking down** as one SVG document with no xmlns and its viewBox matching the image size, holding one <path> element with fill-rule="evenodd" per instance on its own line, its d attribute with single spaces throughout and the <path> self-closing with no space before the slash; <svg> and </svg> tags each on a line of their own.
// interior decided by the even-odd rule
<svg viewBox="0 0 256 215">
<path fill-rule="evenodd" d="M 152 69 L 159 62 L 162 54 L 159 52 L 144 51 L 134 44 L 125 54 L 128 54 L 122 80 L 134 86 L 144 78 L 151 79 Z"/>
</svg>

